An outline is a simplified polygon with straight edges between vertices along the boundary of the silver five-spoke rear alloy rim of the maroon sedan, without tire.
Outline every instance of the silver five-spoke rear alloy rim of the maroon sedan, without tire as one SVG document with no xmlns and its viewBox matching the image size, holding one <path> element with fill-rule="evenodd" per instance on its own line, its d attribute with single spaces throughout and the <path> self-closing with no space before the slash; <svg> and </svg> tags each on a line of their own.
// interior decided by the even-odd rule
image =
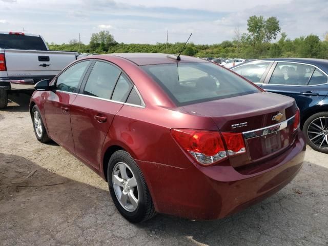
<svg viewBox="0 0 328 246">
<path fill-rule="evenodd" d="M 116 198 L 121 206 L 129 212 L 135 211 L 139 204 L 138 185 L 129 166 L 124 162 L 116 163 L 112 180 Z"/>
</svg>

